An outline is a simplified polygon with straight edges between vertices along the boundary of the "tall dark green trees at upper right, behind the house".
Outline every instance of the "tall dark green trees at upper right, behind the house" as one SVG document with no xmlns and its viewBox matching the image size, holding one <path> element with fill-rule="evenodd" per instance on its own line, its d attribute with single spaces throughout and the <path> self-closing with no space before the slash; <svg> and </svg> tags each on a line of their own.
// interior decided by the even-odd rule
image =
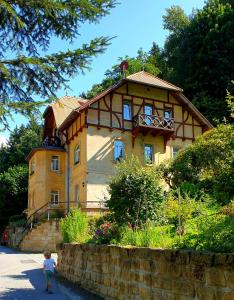
<svg viewBox="0 0 234 300">
<path fill-rule="evenodd" d="M 229 117 L 225 97 L 234 73 L 233 27 L 232 0 L 208 0 L 190 17 L 180 7 L 164 16 L 170 31 L 164 46 L 166 79 L 183 87 L 209 120 Z"/>
</svg>

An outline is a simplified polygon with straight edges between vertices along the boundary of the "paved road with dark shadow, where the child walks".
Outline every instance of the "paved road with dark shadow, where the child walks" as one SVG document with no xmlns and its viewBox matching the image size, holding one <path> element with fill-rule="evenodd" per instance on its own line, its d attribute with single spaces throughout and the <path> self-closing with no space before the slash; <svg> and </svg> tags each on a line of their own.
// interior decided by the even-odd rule
<svg viewBox="0 0 234 300">
<path fill-rule="evenodd" d="M 56 259 L 56 255 L 54 255 Z M 0 299 L 6 300 L 95 300 L 84 290 L 71 290 L 53 282 L 53 294 L 45 292 L 42 254 L 16 252 L 0 246 Z"/>
</svg>

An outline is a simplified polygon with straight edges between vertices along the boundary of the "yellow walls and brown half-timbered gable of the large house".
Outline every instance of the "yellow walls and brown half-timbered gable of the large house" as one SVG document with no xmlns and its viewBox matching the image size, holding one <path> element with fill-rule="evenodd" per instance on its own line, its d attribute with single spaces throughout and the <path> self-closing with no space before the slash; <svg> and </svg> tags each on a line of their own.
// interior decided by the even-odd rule
<svg viewBox="0 0 234 300">
<path fill-rule="evenodd" d="M 64 209 L 80 207 L 96 213 L 104 206 L 114 174 L 116 141 L 125 156 L 133 154 L 144 163 L 150 150 L 152 163 L 159 164 L 212 127 L 181 89 L 140 73 L 94 99 L 82 100 L 56 128 L 59 147 L 31 152 L 29 165 L 33 162 L 35 170 L 29 176 L 29 213 L 50 202 L 51 191 L 59 192 Z M 51 111 L 45 118 L 51 118 Z M 51 171 L 54 156 L 59 156 L 57 172 Z"/>
</svg>

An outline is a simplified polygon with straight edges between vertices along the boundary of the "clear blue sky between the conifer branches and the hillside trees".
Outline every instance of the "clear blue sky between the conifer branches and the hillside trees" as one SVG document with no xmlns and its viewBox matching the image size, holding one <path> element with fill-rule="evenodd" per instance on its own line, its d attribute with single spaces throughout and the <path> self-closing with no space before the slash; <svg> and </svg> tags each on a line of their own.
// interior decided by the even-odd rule
<svg viewBox="0 0 234 300">
<path fill-rule="evenodd" d="M 65 51 L 67 48 L 75 49 L 97 36 L 116 36 L 104 54 L 94 58 L 91 71 L 85 75 L 78 74 L 70 79 L 69 95 L 78 96 L 82 91 L 87 91 L 93 84 L 99 83 L 105 71 L 116 64 L 118 57 L 128 55 L 134 57 L 139 48 L 148 51 L 155 41 L 163 47 L 168 32 L 163 29 L 162 16 L 165 9 L 172 5 L 181 6 L 186 14 L 191 14 L 193 8 L 202 8 L 204 0 L 120 0 L 110 15 L 100 20 L 99 24 L 83 24 L 80 37 L 72 44 L 61 42 L 53 38 L 50 52 Z M 65 94 L 64 90 L 58 91 L 58 97 Z M 16 115 L 11 122 L 12 129 L 25 119 Z M 0 132 L 0 136 L 9 136 L 9 132 Z"/>
</svg>

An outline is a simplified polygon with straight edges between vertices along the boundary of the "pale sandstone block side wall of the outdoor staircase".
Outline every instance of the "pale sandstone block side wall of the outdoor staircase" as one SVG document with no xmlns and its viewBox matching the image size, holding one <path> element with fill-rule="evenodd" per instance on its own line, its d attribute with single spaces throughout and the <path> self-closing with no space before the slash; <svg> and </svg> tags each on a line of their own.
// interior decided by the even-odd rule
<svg viewBox="0 0 234 300">
<path fill-rule="evenodd" d="M 56 252 L 56 245 L 62 241 L 59 231 L 59 220 L 51 219 L 37 223 L 23 237 L 19 244 L 20 250 L 43 252 L 49 250 Z"/>
</svg>

